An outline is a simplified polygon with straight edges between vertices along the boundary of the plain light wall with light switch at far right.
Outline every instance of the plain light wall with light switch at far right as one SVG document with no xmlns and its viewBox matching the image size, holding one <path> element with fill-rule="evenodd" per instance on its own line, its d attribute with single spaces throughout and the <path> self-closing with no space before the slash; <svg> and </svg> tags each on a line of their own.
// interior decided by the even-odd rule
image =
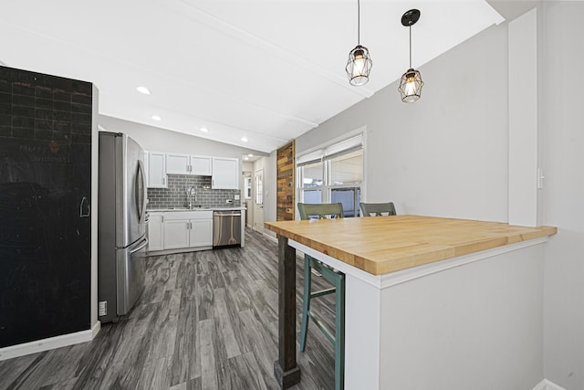
<svg viewBox="0 0 584 390">
<path fill-rule="evenodd" d="M 543 2 L 545 56 L 541 140 L 547 244 L 544 300 L 546 378 L 584 389 L 584 3 Z"/>
</svg>

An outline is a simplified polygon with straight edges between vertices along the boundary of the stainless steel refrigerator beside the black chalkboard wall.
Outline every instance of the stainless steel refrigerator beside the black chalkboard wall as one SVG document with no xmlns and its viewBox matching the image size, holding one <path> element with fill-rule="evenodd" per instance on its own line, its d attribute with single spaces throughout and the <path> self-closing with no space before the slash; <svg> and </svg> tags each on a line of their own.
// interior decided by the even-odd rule
<svg viewBox="0 0 584 390">
<path fill-rule="evenodd" d="M 144 151 L 120 132 L 99 132 L 99 321 L 118 321 L 144 287 L 146 175 Z"/>
</svg>

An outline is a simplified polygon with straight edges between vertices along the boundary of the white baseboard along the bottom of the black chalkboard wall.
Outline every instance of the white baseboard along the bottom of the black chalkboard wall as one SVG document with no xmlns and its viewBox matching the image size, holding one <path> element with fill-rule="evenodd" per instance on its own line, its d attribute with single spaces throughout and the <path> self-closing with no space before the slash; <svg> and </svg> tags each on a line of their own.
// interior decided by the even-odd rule
<svg viewBox="0 0 584 390">
<path fill-rule="evenodd" d="M 0 361 L 24 356 L 30 353 L 39 353 L 66 347 L 68 345 L 87 343 L 93 340 L 101 329 L 101 322 L 97 321 L 91 329 L 87 331 L 62 334 L 60 336 L 49 337 L 48 339 L 36 340 L 35 342 L 11 345 L 0 348 Z"/>
</svg>

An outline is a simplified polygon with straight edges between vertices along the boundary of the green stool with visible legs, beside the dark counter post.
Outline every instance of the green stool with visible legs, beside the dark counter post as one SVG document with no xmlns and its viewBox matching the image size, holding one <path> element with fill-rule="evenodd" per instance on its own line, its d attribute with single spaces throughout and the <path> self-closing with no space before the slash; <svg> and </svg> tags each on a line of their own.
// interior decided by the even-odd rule
<svg viewBox="0 0 584 390">
<path fill-rule="evenodd" d="M 343 206 L 340 203 L 310 205 L 298 203 L 300 219 L 342 218 Z M 324 279 L 334 287 L 312 291 L 312 269 L 315 269 Z M 333 335 L 325 324 L 310 311 L 310 300 L 324 295 L 336 293 L 335 297 L 335 334 Z M 335 347 L 335 389 L 344 388 L 345 382 L 345 274 L 332 269 L 327 264 L 304 255 L 304 300 L 302 302 L 302 324 L 300 332 L 300 351 L 304 352 L 307 346 L 308 320 L 312 319 L 328 341 Z"/>
</svg>

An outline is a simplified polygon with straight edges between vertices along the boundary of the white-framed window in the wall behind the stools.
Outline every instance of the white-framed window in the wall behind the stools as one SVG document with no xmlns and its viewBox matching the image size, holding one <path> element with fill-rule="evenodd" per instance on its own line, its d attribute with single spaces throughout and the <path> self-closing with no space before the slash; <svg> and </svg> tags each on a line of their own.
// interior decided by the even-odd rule
<svg viewBox="0 0 584 390">
<path fill-rule="evenodd" d="M 303 203 L 341 203 L 345 216 L 360 216 L 362 134 L 297 157 Z"/>
</svg>

